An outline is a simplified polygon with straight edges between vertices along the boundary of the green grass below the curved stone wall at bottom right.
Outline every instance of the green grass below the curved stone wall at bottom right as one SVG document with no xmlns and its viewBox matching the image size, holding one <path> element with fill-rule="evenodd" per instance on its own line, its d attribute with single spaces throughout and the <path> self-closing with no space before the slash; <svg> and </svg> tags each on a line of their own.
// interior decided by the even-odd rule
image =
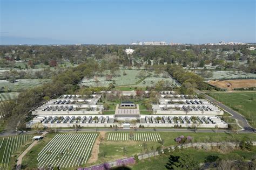
<svg viewBox="0 0 256 170">
<path fill-rule="evenodd" d="M 254 159 L 255 157 L 255 152 L 256 152 L 256 147 L 253 147 L 253 151 L 248 152 L 248 151 L 241 151 L 241 150 L 233 150 L 231 152 L 220 152 L 220 151 L 205 151 L 205 150 L 197 150 L 195 148 L 187 148 L 186 150 L 183 151 L 176 151 L 176 154 L 179 155 L 181 153 L 183 154 L 188 154 L 190 157 L 193 157 L 196 161 L 198 162 L 210 162 L 210 161 L 215 161 L 218 158 L 237 158 L 241 157 L 241 159 L 245 160 L 251 160 Z M 165 169 L 165 165 L 168 162 L 169 155 L 163 154 L 156 156 L 155 158 L 149 158 L 149 159 L 144 159 L 140 160 L 136 164 L 130 166 L 132 169 L 138 169 L 138 170 L 155 170 L 155 169 Z"/>
</svg>

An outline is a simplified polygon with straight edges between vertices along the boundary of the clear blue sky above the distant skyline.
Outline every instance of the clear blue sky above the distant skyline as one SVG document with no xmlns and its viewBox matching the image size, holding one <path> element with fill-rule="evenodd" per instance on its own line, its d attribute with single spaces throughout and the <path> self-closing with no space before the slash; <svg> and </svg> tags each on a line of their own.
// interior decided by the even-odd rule
<svg viewBox="0 0 256 170">
<path fill-rule="evenodd" d="M 254 0 L 0 1 L 0 44 L 255 42 Z"/>
</svg>

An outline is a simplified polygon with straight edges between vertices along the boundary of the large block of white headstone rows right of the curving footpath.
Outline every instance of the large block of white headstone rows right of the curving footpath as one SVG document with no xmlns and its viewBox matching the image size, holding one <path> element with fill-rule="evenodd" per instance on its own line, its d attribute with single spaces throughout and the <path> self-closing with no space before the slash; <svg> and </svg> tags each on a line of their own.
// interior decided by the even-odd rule
<svg viewBox="0 0 256 170">
<path fill-rule="evenodd" d="M 38 168 L 69 168 L 86 164 L 97 133 L 57 134 L 38 153 Z"/>
</svg>

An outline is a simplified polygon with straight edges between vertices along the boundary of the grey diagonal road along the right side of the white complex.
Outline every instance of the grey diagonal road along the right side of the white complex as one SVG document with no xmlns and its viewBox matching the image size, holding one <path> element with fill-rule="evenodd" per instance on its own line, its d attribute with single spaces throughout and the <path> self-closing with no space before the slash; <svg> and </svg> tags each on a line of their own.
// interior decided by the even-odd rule
<svg viewBox="0 0 256 170">
<path fill-rule="evenodd" d="M 197 93 L 200 94 L 202 93 L 201 91 L 197 90 Z M 205 94 L 205 98 L 209 101 L 211 101 L 212 103 L 214 103 L 215 105 L 218 105 L 218 107 L 220 107 L 221 109 L 225 110 L 226 112 L 230 113 L 233 118 L 237 119 L 239 122 L 239 125 L 242 127 L 243 131 L 248 131 L 248 132 L 256 132 L 255 129 L 253 129 L 248 122 L 246 121 L 245 117 L 240 115 L 238 112 L 232 110 L 231 108 L 228 108 L 226 105 L 218 102 L 217 100 L 215 100 L 214 98 L 208 96 Z"/>
</svg>

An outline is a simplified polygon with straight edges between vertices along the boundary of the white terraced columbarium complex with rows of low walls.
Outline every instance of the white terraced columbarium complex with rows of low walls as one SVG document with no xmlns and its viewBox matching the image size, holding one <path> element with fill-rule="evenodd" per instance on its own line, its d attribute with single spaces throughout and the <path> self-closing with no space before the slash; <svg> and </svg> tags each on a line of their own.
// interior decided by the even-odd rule
<svg viewBox="0 0 256 170">
<path fill-rule="evenodd" d="M 62 95 L 50 100 L 32 111 L 36 115 L 27 128 L 34 124 L 42 123 L 48 128 L 228 128 L 219 115 L 223 110 L 207 100 L 201 100 L 196 96 L 178 95 L 174 91 L 161 91 L 156 93 L 157 104 L 152 103 L 152 111 L 149 114 L 140 114 L 141 103 L 137 101 L 120 101 L 116 104 L 114 115 L 103 115 L 103 96 L 117 93 L 117 91 L 101 91 L 90 96 Z M 149 91 L 144 91 L 149 94 Z M 122 96 L 136 96 L 136 91 L 120 91 Z M 106 109 L 106 108 L 105 108 Z M 114 109 L 114 107 L 112 107 Z M 151 113 L 151 114 L 150 114 Z"/>
</svg>

